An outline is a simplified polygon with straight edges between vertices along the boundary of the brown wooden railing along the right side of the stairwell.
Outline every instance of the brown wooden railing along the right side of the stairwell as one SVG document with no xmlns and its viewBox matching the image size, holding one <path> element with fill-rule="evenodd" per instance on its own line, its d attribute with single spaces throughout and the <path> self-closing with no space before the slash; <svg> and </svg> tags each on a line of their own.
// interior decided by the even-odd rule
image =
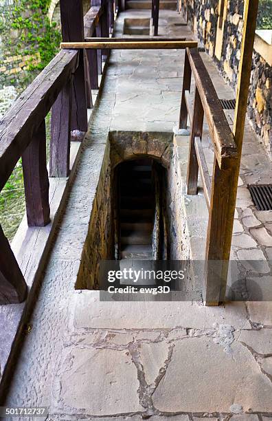
<svg viewBox="0 0 272 421">
<path fill-rule="evenodd" d="M 192 76 L 195 81 L 193 101 L 190 98 Z M 212 180 L 209 177 L 201 144 L 204 116 L 209 127 L 209 137 L 214 145 Z M 234 136 L 212 80 L 197 49 L 187 49 L 185 52 L 179 120 L 181 129 L 187 128 L 188 119 L 190 121 L 190 147 L 187 193 L 188 195 L 197 194 L 198 175 L 200 173 L 209 210 L 203 298 L 207 305 L 217 305 L 220 301 L 225 300 L 236 201 L 234 173 L 240 162 L 237 159 L 238 151 Z"/>
</svg>

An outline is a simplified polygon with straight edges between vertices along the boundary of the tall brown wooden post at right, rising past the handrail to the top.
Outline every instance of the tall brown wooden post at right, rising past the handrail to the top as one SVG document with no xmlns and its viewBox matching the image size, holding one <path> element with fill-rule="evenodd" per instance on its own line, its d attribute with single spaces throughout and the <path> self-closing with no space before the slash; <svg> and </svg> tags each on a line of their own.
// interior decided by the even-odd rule
<svg viewBox="0 0 272 421">
<path fill-rule="evenodd" d="M 224 222 L 222 226 L 222 219 L 220 219 L 221 217 L 220 215 L 218 215 L 216 217 L 218 219 L 218 223 L 215 224 L 214 222 L 212 222 L 213 215 L 211 214 L 209 216 L 209 235 L 207 236 L 206 257 L 207 259 L 214 259 L 214 252 L 212 250 L 214 250 L 214 237 L 216 237 L 216 233 L 214 235 L 212 235 L 212 233 L 214 232 L 214 229 L 218 229 L 219 232 L 222 230 L 222 239 L 218 239 L 218 246 L 220 247 L 220 250 L 216 252 L 218 259 L 221 259 L 222 262 L 229 261 L 229 255 L 231 250 L 231 239 L 234 224 L 234 212 L 236 208 L 236 195 L 240 170 L 240 159 L 242 154 L 242 140 L 244 137 L 245 129 L 245 116 L 247 113 L 247 98 L 249 94 L 249 80 L 251 74 L 251 63 L 257 14 L 258 0 L 245 0 L 244 28 L 242 34 L 241 57 L 238 70 L 238 85 L 236 89 L 236 110 L 233 131 L 234 140 L 238 149 L 238 159 L 236 159 L 234 165 L 232 165 L 232 168 L 231 164 L 229 164 L 229 170 L 227 170 L 227 173 L 225 173 L 225 175 L 223 174 L 220 176 L 221 180 L 225 178 L 225 183 L 229 184 L 229 193 L 227 193 L 227 191 L 225 191 L 225 193 L 218 191 L 216 181 L 214 182 L 214 186 L 212 188 L 212 196 L 215 196 L 212 200 L 214 200 L 214 204 L 216 204 L 216 206 L 218 206 L 218 203 L 220 202 L 219 197 L 222 197 L 223 194 L 225 195 L 225 210 L 221 209 L 220 214 L 222 216 L 224 215 L 223 217 L 225 218 L 226 222 Z M 218 173 L 218 169 L 216 168 L 216 166 L 214 172 L 215 174 Z M 229 175 L 230 173 L 231 175 Z M 212 206 L 214 206 L 212 204 L 212 200 L 211 208 Z M 226 263 L 222 263 L 220 278 L 218 278 L 217 282 L 217 291 L 215 290 L 216 285 L 213 285 L 214 277 L 209 277 L 209 272 L 207 272 L 204 296 L 206 305 L 218 305 L 220 300 L 225 299 L 227 270 L 228 265 Z"/>
</svg>

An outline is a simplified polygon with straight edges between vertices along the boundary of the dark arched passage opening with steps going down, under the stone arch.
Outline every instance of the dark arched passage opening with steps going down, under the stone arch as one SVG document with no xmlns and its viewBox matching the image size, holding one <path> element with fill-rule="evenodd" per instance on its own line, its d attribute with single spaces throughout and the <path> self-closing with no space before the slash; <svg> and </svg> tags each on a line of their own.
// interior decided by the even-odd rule
<svg viewBox="0 0 272 421">
<path fill-rule="evenodd" d="M 150 158 L 116 168 L 115 257 L 167 259 L 165 169 Z"/>
</svg>

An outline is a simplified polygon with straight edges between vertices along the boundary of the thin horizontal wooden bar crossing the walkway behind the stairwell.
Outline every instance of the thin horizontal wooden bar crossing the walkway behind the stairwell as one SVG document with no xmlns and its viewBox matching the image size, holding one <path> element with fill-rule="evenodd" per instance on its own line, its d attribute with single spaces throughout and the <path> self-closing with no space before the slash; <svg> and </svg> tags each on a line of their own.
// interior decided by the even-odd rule
<svg viewBox="0 0 272 421">
<path fill-rule="evenodd" d="M 101 42 L 80 42 L 61 43 L 60 48 L 69 50 L 80 50 L 82 48 L 109 48 L 109 50 L 174 50 L 181 48 L 195 48 L 196 41 L 101 41 Z"/>
</svg>

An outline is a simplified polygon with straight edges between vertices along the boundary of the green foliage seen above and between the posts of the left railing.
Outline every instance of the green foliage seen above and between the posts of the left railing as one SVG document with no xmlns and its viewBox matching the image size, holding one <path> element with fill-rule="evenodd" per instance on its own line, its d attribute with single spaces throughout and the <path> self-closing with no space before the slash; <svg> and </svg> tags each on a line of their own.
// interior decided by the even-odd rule
<svg viewBox="0 0 272 421">
<path fill-rule="evenodd" d="M 14 0 L 10 8 L 0 6 L 0 29 L 5 43 L 7 56 L 30 56 L 27 59 L 28 70 L 9 78 L 8 83 L 15 85 L 19 91 L 32 82 L 36 74 L 58 53 L 61 41 L 56 23 L 50 25 L 47 18 L 49 0 Z M 39 53 L 41 61 L 34 59 Z M 13 75 L 12 75 L 13 76 Z M 47 126 L 47 159 L 49 156 L 50 116 L 46 118 Z M 10 179 L 0 192 L 0 224 L 8 239 L 16 233 L 23 213 L 25 198 L 23 188 L 23 171 L 21 160 L 17 163 Z"/>
</svg>

